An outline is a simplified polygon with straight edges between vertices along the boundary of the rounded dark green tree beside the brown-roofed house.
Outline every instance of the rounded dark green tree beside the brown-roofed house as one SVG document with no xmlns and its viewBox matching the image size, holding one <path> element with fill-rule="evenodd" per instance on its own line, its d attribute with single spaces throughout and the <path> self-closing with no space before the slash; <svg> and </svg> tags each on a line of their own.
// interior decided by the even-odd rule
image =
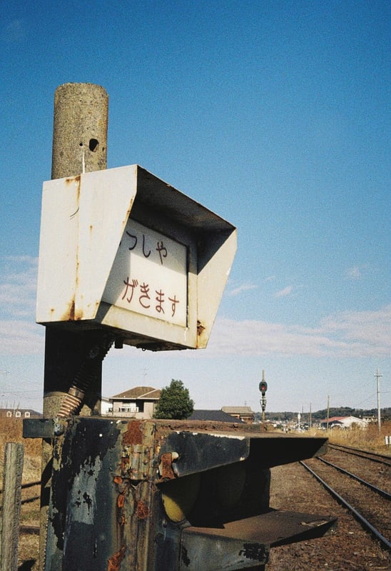
<svg viewBox="0 0 391 571">
<path fill-rule="evenodd" d="M 194 410 L 188 389 L 181 380 L 171 379 L 170 385 L 161 390 L 161 398 L 156 405 L 155 418 L 184 420 Z"/>
</svg>

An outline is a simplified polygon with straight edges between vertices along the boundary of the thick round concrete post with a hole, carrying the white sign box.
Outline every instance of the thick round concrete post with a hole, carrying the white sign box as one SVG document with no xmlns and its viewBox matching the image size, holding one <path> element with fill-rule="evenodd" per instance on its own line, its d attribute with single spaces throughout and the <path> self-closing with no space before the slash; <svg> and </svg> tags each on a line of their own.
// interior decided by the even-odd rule
<svg viewBox="0 0 391 571">
<path fill-rule="evenodd" d="M 76 176 L 107 166 L 108 95 L 93 84 L 64 84 L 54 96 L 54 133 L 51 178 Z M 61 263 L 61 260 L 59 260 Z M 55 268 L 54 268 L 55 271 Z M 46 326 L 44 366 L 44 417 L 59 414 L 64 398 L 88 351 L 101 344 L 100 331 L 64 331 Z M 81 410 L 100 413 L 101 365 L 93 368 Z M 40 570 L 44 570 L 46 527 L 51 484 L 51 443 L 42 450 Z"/>
</svg>

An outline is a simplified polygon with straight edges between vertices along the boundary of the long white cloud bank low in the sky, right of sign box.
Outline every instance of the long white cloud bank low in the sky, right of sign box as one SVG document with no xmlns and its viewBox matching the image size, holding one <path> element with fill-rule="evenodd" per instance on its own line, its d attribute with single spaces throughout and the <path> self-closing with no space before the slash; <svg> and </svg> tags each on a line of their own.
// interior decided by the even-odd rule
<svg viewBox="0 0 391 571">
<path fill-rule="evenodd" d="M 391 305 L 378 311 L 330 315 L 314 328 L 220 319 L 208 350 L 214 354 L 385 357 L 391 353 Z"/>
</svg>

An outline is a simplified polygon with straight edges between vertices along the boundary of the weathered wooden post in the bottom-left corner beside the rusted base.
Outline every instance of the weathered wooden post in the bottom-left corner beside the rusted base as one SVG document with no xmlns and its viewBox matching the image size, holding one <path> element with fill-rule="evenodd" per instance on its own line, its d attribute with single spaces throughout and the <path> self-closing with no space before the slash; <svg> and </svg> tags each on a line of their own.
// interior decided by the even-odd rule
<svg viewBox="0 0 391 571">
<path fill-rule="evenodd" d="M 23 457 L 23 444 L 16 442 L 6 443 L 4 451 L 3 509 L 0 518 L 0 571 L 16 571 L 18 568 Z"/>
</svg>

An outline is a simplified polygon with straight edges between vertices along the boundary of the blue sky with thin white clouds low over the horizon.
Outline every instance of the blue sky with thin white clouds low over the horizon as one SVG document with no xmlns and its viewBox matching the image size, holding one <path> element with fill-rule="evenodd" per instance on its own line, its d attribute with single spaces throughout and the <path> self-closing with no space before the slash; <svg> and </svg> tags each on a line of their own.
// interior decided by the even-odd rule
<svg viewBox="0 0 391 571">
<path fill-rule="evenodd" d="M 41 410 L 35 324 L 54 91 L 108 91 L 138 163 L 238 228 L 208 348 L 112 350 L 103 394 L 180 378 L 196 408 L 391 406 L 388 1 L 1 2 L 0 405 Z"/>
</svg>

